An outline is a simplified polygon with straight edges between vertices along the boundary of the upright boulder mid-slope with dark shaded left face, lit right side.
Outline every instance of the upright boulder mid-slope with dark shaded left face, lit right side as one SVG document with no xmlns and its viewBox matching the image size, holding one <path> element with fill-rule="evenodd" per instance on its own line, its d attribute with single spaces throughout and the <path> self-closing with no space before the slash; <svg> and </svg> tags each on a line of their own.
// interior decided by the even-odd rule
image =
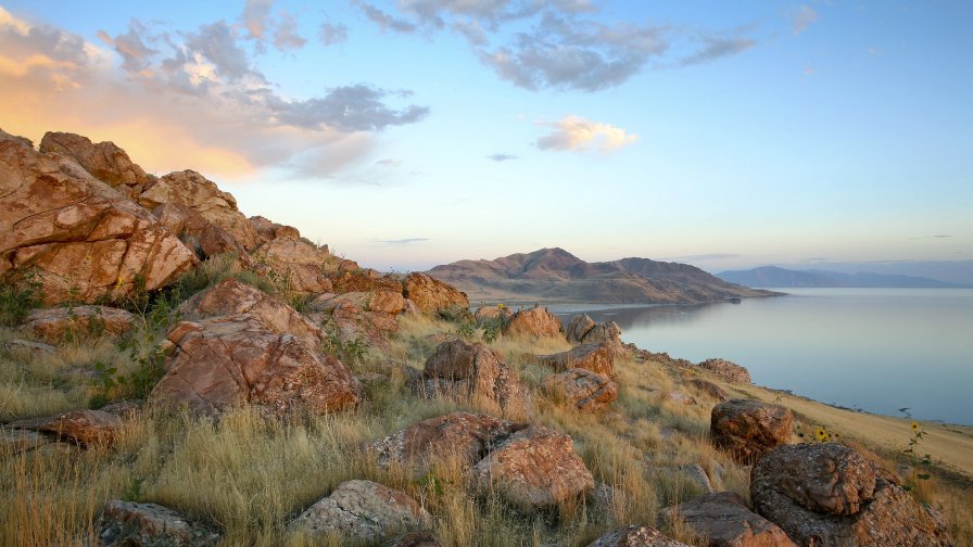
<svg viewBox="0 0 973 547">
<path fill-rule="evenodd" d="M 500 409 L 518 415 L 527 408 L 527 387 L 503 357 L 483 344 L 464 340 L 443 342 L 426 359 L 421 391 L 462 394 L 493 402 Z"/>
</svg>

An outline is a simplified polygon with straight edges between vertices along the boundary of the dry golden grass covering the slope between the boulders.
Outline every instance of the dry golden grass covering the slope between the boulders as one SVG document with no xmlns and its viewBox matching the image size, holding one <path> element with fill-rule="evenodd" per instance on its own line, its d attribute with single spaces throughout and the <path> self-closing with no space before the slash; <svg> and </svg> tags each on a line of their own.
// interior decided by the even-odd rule
<svg viewBox="0 0 973 547">
<path fill-rule="evenodd" d="M 200 284 L 223 275 L 211 271 L 213 279 Z M 151 342 L 160 334 L 153 329 L 165 325 L 146 321 L 134 338 Z M 0 545 L 96 544 L 96 521 L 103 503 L 112 498 L 154 501 L 182 511 L 220 530 L 226 546 L 344 545 L 338 538 L 315 542 L 291 533 L 288 522 L 350 479 L 374 480 L 420 500 L 435 517 L 434 531 L 444 545 L 558 542 L 582 546 L 607 530 L 632 523 L 660 525 L 686 543 L 705 545 L 680 523 L 658 519 L 661 508 L 702 492 L 681 470 L 698 465 L 715 488 L 747 497 L 746 469 L 708 442 L 709 410 L 716 402 L 682 386 L 681 371 L 659 362 L 622 359 L 616 364 L 620 390 L 612 410 L 602 415 L 573 411 L 536 390 L 551 372 L 531 356 L 568 347 L 556 340 L 501 338 L 490 344 L 534 391 L 530 416 L 507 418 L 570 434 L 595 480 L 610 486 L 598 499 L 552 513 L 523 514 L 498 497 L 473 494 L 459 466 L 440 466 L 419 480 L 402 469 L 379 468 L 365 448 L 374 440 L 457 409 L 501 411 L 478 400 L 419 400 L 405 385 L 403 367 L 421 368 L 435 345 L 455 332 L 453 323 L 402 318 L 391 352 L 369 352 L 354 365 L 357 373 L 381 374 L 371 374 L 367 399 L 354 412 L 283 422 L 240 408 L 212 422 L 149 406 L 125 422 L 112 447 L 48 444 L 0 455 Z M 11 328 L 0 330 L 0 343 L 13 338 L 23 335 Z M 97 392 L 96 362 L 131 371 L 144 352 L 137 344 L 119 351 L 118 342 L 109 339 L 73 342 L 50 355 L 0 349 L 0 421 L 87 407 Z M 766 400 L 778 396 L 751 386 L 722 385 Z M 671 400 L 670 391 L 692 395 L 698 405 Z M 900 453 L 909 440 L 909 427 L 902 420 L 787 395 L 781 399 L 798 414 L 804 428 L 824 424 L 843 440 L 885 457 Z M 919 494 L 946 514 L 959 545 L 973 544 L 973 512 L 968 503 L 973 487 L 961 480 L 973 476 L 971 431 L 926 428 L 930 435 L 923 449 L 949 472 L 937 473 L 938 480 Z M 895 468 L 894 461 L 885 463 Z"/>
</svg>

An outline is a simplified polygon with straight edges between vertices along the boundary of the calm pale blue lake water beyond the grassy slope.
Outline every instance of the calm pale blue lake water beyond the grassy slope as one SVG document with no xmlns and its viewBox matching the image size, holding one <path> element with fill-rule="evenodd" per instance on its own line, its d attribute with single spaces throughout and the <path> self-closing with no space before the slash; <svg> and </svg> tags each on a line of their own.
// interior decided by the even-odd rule
<svg viewBox="0 0 973 547">
<path fill-rule="evenodd" d="M 626 342 L 872 412 L 973 424 L 973 289 L 782 289 L 703 306 L 551 306 L 614 320 Z"/>
</svg>

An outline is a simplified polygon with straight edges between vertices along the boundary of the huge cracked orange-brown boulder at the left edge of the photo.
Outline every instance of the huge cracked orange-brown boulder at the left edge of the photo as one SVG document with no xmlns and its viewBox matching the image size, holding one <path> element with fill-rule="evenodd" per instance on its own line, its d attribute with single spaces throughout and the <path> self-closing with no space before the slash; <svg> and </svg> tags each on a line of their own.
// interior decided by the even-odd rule
<svg viewBox="0 0 973 547">
<path fill-rule="evenodd" d="M 4 133 L 5 135 L 5 133 Z M 36 269 L 45 304 L 121 300 L 195 263 L 148 211 L 73 158 L 0 136 L 0 276 Z"/>
</svg>

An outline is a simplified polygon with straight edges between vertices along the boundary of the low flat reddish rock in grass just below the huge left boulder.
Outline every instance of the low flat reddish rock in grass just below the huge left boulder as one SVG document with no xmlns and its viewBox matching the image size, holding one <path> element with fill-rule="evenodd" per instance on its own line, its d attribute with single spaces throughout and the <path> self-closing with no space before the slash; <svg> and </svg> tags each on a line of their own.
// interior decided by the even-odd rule
<svg viewBox="0 0 973 547">
<path fill-rule="evenodd" d="M 46 342 L 59 344 L 70 338 L 119 336 L 128 332 L 135 321 L 130 313 L 105 306 L 75 306 L 70 308 L 35 309 L 27 316 L 21 330 Z"/>
</svg>

